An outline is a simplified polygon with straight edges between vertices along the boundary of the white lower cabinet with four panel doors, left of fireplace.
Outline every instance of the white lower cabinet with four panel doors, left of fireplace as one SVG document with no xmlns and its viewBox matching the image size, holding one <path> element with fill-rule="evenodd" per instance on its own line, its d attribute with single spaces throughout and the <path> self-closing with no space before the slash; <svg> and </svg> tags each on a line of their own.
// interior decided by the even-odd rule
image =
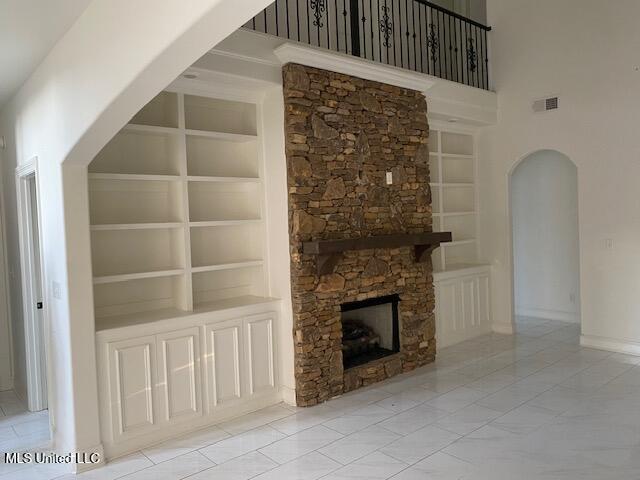
<svg viewBox="0 0 640 480">
<path fill-rule="evenodd" d="M 275 300 L 98 332 L 107 455 L 278 401 L 277 313 L 264 311 L 273 308 Z"/>
</svg>

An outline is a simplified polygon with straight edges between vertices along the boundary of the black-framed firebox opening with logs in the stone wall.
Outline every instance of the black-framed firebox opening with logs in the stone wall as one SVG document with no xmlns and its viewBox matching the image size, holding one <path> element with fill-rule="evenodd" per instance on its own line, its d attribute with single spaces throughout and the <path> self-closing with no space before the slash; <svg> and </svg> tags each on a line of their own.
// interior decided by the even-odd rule
<svg viewBox="0 0 640 480">
<path fill-rule="evenodd" d="M 343 303 L 342 363 L 345 370 L 400 351 L 398 295 Z"/>
</svg>

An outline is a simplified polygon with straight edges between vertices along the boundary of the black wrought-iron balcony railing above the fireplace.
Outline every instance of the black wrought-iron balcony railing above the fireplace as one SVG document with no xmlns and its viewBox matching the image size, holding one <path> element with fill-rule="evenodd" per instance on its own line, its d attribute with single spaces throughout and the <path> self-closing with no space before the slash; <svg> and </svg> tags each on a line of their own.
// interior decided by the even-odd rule
<svg viewBox="0 0 640 480">
<path fill-rule="evenodd" d="M 425 0 L 276 0 L 244 26 L 489 89 L 491 27 Z"/>
</svg>

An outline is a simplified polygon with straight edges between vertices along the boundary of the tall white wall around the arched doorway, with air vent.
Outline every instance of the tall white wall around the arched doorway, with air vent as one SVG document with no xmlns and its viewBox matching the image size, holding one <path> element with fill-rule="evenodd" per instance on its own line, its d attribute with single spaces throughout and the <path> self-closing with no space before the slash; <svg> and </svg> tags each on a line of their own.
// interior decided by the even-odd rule
<svg viewBox="0 0 640 480">
<path fill-rule="evenodd" d="M 489 0 L 499 120 L 480 135 L 480 225 L 493 263 L 497 328 L 513 301 L 508 175 L 528 153 L 553 149 L 578 168 L 583 334 L 640 342 L 640 2 Z M 531 111 L 558 94 L 560 108 Z M 612 240 L 607 249 L 606 239 Z"/>
</svg>

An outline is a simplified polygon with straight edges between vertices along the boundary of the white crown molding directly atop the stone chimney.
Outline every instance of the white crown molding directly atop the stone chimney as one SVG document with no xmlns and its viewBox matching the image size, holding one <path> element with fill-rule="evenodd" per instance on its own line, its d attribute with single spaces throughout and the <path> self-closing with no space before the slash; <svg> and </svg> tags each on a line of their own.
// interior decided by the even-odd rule
<svg viewBox="0 0 640 480">
<path fill-rule="evenodd" d="M 435 78 L 423 73 L 391 67 L 324 48 L 285 43 L 277 47 L 273 53 L 283 65 L 299 63 L 308 67 L 330 70 L 423 93 L 436 84 Z"/>
</svg>

